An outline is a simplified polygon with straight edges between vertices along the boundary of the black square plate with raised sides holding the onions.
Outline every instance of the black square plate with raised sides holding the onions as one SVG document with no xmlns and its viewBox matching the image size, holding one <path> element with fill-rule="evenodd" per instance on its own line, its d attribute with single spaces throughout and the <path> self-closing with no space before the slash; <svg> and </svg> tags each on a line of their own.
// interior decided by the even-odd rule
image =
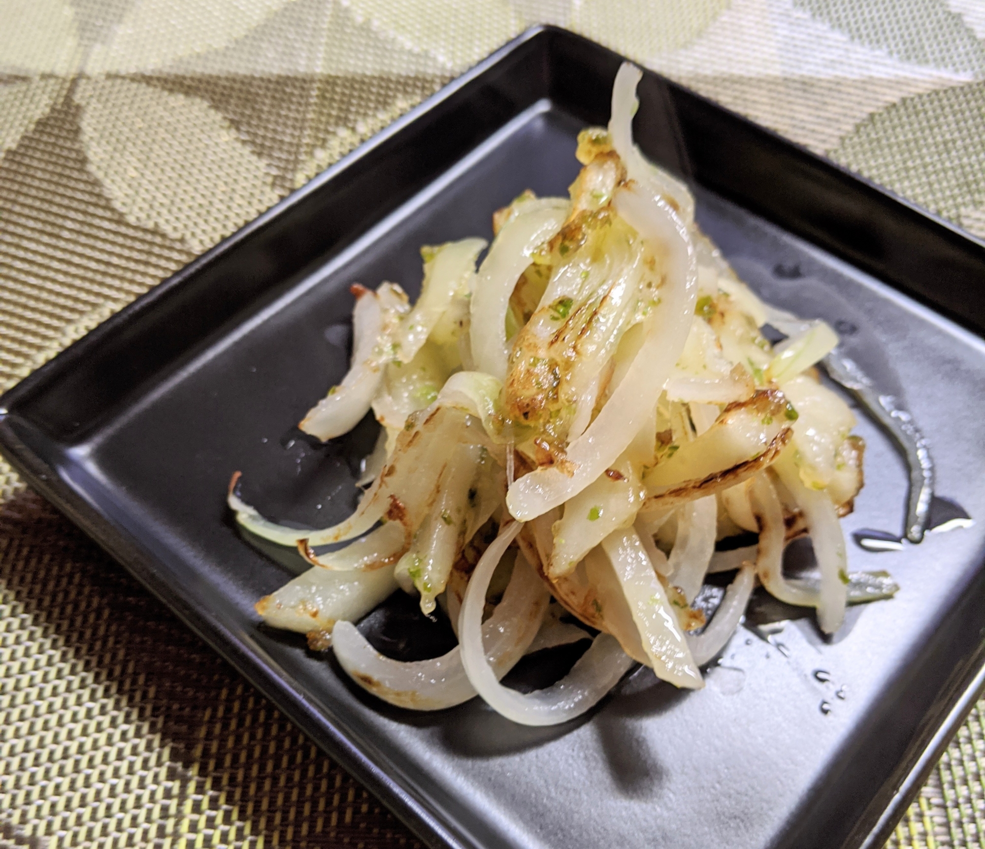
<svg viewBox="0 0 985 849">
<path fill-rule="evenodd" d="M 349 285 L 414 294 L 422 244 L 490 236 L 524 188 L 563 193 L 620 61 L 571 33 L 521 36 L 8 392 L 2 450 L 432 845 L 874 846 L 981 686 L 980 523 L 852 549 L 902 589 L 832 641 L 812 619 L 772 642 L 741 628 L 704 690 L 638 671 L 551 729 L 479 700 L 389 708 L 253 612 L 295 566 L 237 533 L 230 474 L 269 514 L 326 525 L 373 439 L 367 422 L 320 447 L 294 426 L 345 371 Z M 654 74 L 640 98 L 641 147 L 691 181 L 740 274 L 891 363 L 938 490 L 985 516 L 982 245 Z M 845 527 L 894 530 L 905 470 L 858 413 L 868 481 Z"/>
</svg>

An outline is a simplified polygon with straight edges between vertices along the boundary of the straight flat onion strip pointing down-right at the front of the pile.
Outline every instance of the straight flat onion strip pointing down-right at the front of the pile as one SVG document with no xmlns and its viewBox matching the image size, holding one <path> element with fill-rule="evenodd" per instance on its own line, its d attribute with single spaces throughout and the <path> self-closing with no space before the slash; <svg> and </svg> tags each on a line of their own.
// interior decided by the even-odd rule
<svg viewBox="0 0 985 849">
<path fill-rule="evenodd" d="M 632 528 L 616 531 L 605 539 L 602 548 L 616 570 L 643 650 L 657 678 L 691 689 L 704 686 L 688 640 L 636 532 Z"/>
</svg>

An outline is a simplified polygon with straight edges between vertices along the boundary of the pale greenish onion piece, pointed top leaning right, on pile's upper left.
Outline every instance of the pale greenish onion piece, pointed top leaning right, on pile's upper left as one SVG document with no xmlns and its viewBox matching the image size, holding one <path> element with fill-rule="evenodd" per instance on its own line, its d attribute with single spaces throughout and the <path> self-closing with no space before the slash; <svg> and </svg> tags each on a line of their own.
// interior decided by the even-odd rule
<svg viewBox="0 0 985 849">
<path fill-rule="evenodd" d="M 476 273 L 476 257 L 486 247 L 484 238 L 463 238 L 441 245 L 425 265 L 421 296 L 401 322 L 397 357 L 410 362 L 457 294 L 467 291 Z"/>
</svg>

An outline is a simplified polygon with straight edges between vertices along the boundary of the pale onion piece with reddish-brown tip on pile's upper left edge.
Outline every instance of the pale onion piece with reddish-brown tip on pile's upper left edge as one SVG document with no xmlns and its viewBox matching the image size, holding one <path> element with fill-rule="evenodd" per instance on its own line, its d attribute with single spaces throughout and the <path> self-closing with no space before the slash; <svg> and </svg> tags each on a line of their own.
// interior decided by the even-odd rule
<svg viewBox="0 0 985 849">
<path fill-rule="evenodd" d="M 297 426 L 305 433 L 327 440 L 348 433 L 366 413 L 383 379 L 383 365 L 389 359 L 385 349 L 399 320 L 399 308 L 406 307 L 406 295 L 396 296 L 392 284 L 378 292 L 353 287 L 353 357 L 349 372 L 338 386 L 312 407 Z"/>
</svg>

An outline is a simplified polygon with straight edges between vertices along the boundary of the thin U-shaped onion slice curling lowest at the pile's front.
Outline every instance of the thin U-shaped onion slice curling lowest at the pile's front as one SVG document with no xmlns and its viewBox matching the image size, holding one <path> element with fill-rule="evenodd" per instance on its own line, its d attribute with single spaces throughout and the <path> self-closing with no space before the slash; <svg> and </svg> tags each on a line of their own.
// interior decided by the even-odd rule
<svg viewBox="0 0 985 849">
<path fill-rule="evenodd" d="M 493 710 L 521 725 L 558 725 L 580 716 L 616 686 L 632 666 L 619 641 L 599 634 L 571 671 L 557 684 L 528 695 L 501 686 L 483 651 L 483 608 L 496 563 L 522 525 L 510 523 L 482 556 L 469 581 L 458 620 L 466 675 Z"/>
</svg>

